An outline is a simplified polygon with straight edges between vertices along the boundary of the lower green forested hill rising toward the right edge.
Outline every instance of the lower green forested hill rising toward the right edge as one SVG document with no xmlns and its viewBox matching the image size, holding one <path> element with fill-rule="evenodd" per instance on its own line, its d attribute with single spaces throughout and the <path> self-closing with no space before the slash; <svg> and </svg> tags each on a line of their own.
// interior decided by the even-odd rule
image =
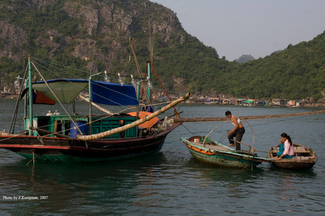
<svg viewBox="0 0 325 216">
<path fill-rule="evenodd" d="M 230 93 L 295 100 L 324 97 L 324 51 L 325 32 L 312 41 L 289 44 L 283 52 L 241 64 L 240 68 L 230 69 L 238 86 Z"/>
</svg>

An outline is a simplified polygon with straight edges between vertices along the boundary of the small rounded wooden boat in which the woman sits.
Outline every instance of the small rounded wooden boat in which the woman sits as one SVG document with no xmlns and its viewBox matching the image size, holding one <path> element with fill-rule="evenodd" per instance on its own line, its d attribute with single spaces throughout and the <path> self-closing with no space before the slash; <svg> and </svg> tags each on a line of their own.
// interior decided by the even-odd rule
<svg viewBox="0 0 325 216">
<path fill-rule="evenodd" d="M 268 150 L 267 156 L 268 159 L 271 160 L 271 164 L 273 164 L 274 167 L 293 170 L 310 169 L 314 166 L 314 164 L 316 164 L 316 151 L 313 151 L 312 148 L 309 148 L 307 145 L 303 146 L 293 143 L 293 146 L 295 148 L 295 155 L 293 158 L 281 158 L 279 160 L 277 159 L 278 157 L 276 152 L 278 152 L 280 144 L 276 148 L 271 147 L 270 150 Z"/>
</svg>

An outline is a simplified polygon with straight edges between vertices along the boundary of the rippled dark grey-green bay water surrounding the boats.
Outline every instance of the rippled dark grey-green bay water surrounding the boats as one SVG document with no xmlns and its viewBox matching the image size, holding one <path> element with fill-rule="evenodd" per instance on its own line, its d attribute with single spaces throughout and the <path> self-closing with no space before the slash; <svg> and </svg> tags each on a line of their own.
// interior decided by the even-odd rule
<svg viewBox="0 0 325 216">
<path fill-rule="evenodd" d="M 11 104 L 4 106 L 6 112 Z M 223 116 L 228 109 L 238 116 L 309 111 L 203 105 L 185 105 L 179 111 L 184 110 L 184 117 L 211 117 Z M 1 112 L 1 126 L 8 128 L 10 120 L 10 115 Z M 247 171 L 197 162 L 179 137 L 204 136 L 218 122 L 183 124 L 167 136 L 158 154 L 126 161 L 27 167 L 28 160 L 1 149 L 1 215 L 324 215 L 324 123 L 324 114 L 249 121 L 257 150 L 276 145 L 282 132 L 317 150 L 319 161 L 307 171 L 277 169 L 266 163 Z M 229 128 L 231 124 L 224 124 L 211 138 L 220 140 Z M 252 144 L 252 131 L 247 130 L 243 142 Z M 3 196 L 48 198 L 6 200 Z"/>
</svg>

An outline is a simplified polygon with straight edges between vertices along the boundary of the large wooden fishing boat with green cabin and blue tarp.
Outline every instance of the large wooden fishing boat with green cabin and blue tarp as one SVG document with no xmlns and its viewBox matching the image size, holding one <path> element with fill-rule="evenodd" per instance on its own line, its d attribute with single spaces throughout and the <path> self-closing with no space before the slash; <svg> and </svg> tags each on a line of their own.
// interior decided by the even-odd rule
<svg viewBox="0 0 325 216">
<path fill-rule="evenodd" d="M 20 133 L 15 133 L 12 123 L 8 133 L 0 134 L 0 148 L 16 152 L 30 159 L 30 162 L 40 160 L 45 162 L 98 162 L 158 152 L 168 133 L 180 124 L 174 123 L 171 118 L 167 117 L 158 119 L 158 115 L 175 107 L 190 95 L 188 93 L 153 113 L 112 114 L 109 112 L 109 114 L 95 116 L 90 105 L 88 115 L 79 115 L 76 114 L 73 103 L 79 93 L 84 90 L 89 90 L 91 103 L 134 106 L 132 111 L 139 111 L 141 107 L 136 89 L 133 85 L 95 81 L 91 80 L 91 77 L 88 80 L 46 80 L 36 67 L 42 81 L 32 83 L 29 82 L 33 77 L 31 65 L 35 67 L 33 59 L 28 58 L 28 76 L 25 72 L 23 78 L 27 83 L 27 88 L 24 91 L 23 85 L 20 88 L 20 97 L 28 92 L 25 95 L 24 129 Z M 144 81 L 146 79 L 141 80 L 141 82 Z M 61 109 L 65 114 L 50 114 L 44 109 L 42 114 L 34 113 L 35 104 L 57 102 L 60 105 L 73 104 L 72 114 L 69 114 L 63 105 Z M 13 120 L 16 116 L 15 110 Z M 150 123 L 146 124 L 148 122 Z"/>
</svg>

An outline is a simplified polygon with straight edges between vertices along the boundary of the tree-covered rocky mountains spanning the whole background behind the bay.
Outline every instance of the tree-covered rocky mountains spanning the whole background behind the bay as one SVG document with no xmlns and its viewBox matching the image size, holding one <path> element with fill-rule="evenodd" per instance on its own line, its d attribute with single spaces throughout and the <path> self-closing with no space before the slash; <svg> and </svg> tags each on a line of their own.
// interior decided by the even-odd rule
<svg viewBox="0 0 325 216">
<path fill-rule="evenodd" d="M 28 54 L 79 68 L 83 78 L 90 71 L 106 70 L 114 81 L 122 73 L 128 83 L 137 73 L 129 37 L 144 71 L 149 36 L 155 71 L 173 92 L 256 99 L 324 97 L 325 32 L 264 59 L 238 64 L 187 34 L 170 9 L 147 0 L 1 1 L 0 90 L 24 73 Z"/>
</svg>

